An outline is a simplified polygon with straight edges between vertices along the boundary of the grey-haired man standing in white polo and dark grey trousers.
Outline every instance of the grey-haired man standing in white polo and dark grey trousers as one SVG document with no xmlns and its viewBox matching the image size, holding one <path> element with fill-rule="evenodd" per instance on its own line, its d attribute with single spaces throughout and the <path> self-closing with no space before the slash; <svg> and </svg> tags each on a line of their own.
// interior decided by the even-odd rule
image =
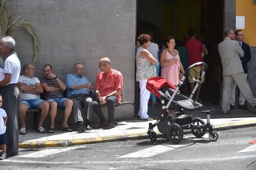
<svg viewBox="0 0 256 170">
<path fill-rule="evenodd" d="M 18 101 L 20 93 L 17 83 L 20 75 L 20 60 L 14 52 L 15 41 L 11 37 L 0 38 L 0 53 L 3 58 L 4 79 L 0 81 L 0 95 L 3 96 L 2 108 L 8 114 L 6 124 L 7 156 L 18 154 Z"/>
</svg>

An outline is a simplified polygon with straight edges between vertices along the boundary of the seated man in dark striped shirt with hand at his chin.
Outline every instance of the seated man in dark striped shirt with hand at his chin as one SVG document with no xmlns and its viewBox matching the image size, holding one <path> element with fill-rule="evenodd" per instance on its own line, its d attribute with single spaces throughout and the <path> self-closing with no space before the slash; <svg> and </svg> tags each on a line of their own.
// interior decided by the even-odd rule
<svg viewBox="0 0 256 170">
<path fill-rule="evenodd" d="M 54 133 L 54 120 L 57 115 L 57 107 L 65 109 L 64 119 L 61 125 L 63 127 L 63 131 L 73 132 L 67 123 L 72 110 L 73 101 L 68 98 L 64 98 L 66 85 L 63 83 L 61 78 L 57 77 L 53 73 L 53 69 L 50 64 L 44 65 L 43 73 L 44 78 L 40 78 L 40 83 L 44 89 L 44 98 L 50 103 L 49 114 L 51 118 L 51 125 L 48 133 Z"/>
</svg>

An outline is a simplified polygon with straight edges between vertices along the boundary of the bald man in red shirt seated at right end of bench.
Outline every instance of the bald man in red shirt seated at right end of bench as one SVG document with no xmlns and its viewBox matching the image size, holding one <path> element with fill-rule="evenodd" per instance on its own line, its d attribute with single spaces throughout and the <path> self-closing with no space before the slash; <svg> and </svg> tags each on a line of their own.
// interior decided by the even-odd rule
<svg viewBox="0 0 256 170">
<path fill-rule="evenodd" d="M 100 59 L 99 68 L 101 72 L 97 75 L 95 82 L 97 99 L 92 102 L 92 109 L 101 121 L 98 128 L 111 129 L 115 128 L 115 106 L 122 100 L 123 76 L 121 72 L 112 69 L 110 59 L 107 57 Z M 102 113 L 102 106 L 108 107 L 108 121 Z"/>
</svg>

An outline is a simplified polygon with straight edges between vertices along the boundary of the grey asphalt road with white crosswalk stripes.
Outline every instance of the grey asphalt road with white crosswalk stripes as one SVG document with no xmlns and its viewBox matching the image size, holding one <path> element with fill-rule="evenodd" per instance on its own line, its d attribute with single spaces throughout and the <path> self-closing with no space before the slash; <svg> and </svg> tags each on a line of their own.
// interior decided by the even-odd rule
<svg viewBox="0 0 256 170">
<path fill-rule="evenodd" d="M 106 142 L 71 147 L 20 149 L 19 155 L 0 161 L 1 169 L 177 169 L 256 170 L 256 127 L 185 135 L 181 143 L 166 139 Z"/>
</svg>

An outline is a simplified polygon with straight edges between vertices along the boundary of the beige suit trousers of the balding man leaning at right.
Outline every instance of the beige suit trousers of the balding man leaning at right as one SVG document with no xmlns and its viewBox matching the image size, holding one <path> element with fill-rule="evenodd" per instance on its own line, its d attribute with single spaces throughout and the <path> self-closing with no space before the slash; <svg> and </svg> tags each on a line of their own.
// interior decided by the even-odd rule
<svg viewBox="0 0 256 170">
<path fill-rule="evenodd" d="M 230 99 L 234 85 L 238 86 L 245 99 L 253 107 L 256 106 L 256 99 L 247 82 L 244 72 L 223 76 L 223 93 L 222 93 L 222 112 L 226 113 L 230 109 Z"/>
</svg>

